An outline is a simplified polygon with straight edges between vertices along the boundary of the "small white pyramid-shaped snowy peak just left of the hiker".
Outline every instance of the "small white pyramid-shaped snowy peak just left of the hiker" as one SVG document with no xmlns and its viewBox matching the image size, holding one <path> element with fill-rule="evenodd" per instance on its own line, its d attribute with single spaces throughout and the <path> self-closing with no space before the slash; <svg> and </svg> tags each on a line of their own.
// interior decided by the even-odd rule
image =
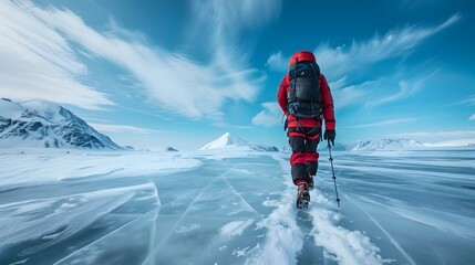
<svg viewBox="0 0 475 265">
<path fill-rule="evenodd" d="M 221 149 L 221 148 L 239 148 L 239 149 L 250 149 L 256 151 L 279 151 L 277 147 L 251 144 L 229 132 L 226 132 L 218 139 L 206 144 L 199 150 L 211 150 L 211 149 Z"/>
</svg>

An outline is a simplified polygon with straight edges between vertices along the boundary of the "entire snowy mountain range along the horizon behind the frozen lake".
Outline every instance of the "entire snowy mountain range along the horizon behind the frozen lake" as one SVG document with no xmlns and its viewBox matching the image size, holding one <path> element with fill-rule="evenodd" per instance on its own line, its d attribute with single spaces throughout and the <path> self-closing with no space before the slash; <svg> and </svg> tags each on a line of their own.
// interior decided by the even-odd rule
<svg viewBox="0 0 475 265">
<path fill-rule="evenodd" d="M 448 145 L 450 144 L 450 145 Z M 474 147 L 475 144 L 448 142 L 445 146 Z M 84 120 L 66 108 L 42 100 L 16 103 L 8 98 L 0 99 L 0 148 L 81 148 L 81 149 L 124 149 L 107 136 L 97 132 Z M 360 141 L 349 146 L 337 142 L 333 150 L 407 150 L 430 147 L 444 147 L 444 145 L 427 144 L 405 139 L 390 138 L 380 140 Z M 210 141 L 200 150 L 211 149 L 240 149 L 256 151 L 279 151 L 277 147 L 248 142 L 229 132 Z M 125 149 L 134 149 L 127 147 Z M 319 149 L 327 149 L 327 142 L 321 142 Z M 167 151 L 176 151 L 168 147 Z"/>
</svg>

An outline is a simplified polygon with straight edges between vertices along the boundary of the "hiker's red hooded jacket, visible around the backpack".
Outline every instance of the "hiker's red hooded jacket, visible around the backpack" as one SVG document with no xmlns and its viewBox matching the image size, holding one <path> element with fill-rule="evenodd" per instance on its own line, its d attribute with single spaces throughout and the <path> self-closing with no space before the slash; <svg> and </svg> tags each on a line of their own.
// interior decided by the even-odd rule
<svg viewBox="0 0 475 265">
<path fill-rule="evenodd" d="M 302 61 L 310 61 L 310 62 L 317 62 L 313 53 L 311 52 L 297 52 L 292 55 L 289 62 L 289 68 L 297 62 Z M 282 81 L 280 82 L 279 91 L 277 93 L 277 102 L 279 103 L 280 108 L 287 116 L 288 127 L 321 127 L 321 120 L 314 119 L 314 118 L 299 118 L 297 121 L 297 117 L 293 115 L 290 115 L 287 112 L 287 93 L 289 92 L 289 74 L 286 74 L 283 76 Z M 334 110 L 333 110 L 333 97 L 331 96 L 330 86 L 327 83 L 327 78 L 320 74 L 320 93 L 322 97 L 322 105 L 323 105 L 323 118 L 324 118 L 324 127 L 326 129 L 334 129 L 335 128 L 335 121 L 334 121 Z"/>
</svg>

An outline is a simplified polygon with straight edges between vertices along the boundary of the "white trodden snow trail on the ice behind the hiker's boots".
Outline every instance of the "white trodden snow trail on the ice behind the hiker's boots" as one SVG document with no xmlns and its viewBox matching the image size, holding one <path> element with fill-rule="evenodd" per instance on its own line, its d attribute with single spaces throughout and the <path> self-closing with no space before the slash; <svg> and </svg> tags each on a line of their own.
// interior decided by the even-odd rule
<svg viewBox="0 0 475 265">
<path fill-rule="evenodd" d="M 285 171 L 289 171 L 288 161 L 281 155 L 275 155 Z M 290 172 L 288 172 L 290 173 Z M 288 177 L 288 176 L 287 176 Z M 317 183 L 317 187 L 319 184 Z M 296 223 L 297 210 L 293 205 L 295 187 L 290 183 L 288 192 L 282 197 L 279 206 L 258 227 L 268 229 L 262 250 L 248 264 L 296 264 L 296 254 L 303 246 L 303 232 Z M 311 191 L 312 204 L 307 210 L 312 216 L 311 234 L 314 244 L 334 255 L 342 265 L 383 264 L 378 254 L 380 248 L 360 231 L 350 231 L 338 226 L 341 216 L 334 212 L 334 205 L 321 192 Z"/>
</svg>

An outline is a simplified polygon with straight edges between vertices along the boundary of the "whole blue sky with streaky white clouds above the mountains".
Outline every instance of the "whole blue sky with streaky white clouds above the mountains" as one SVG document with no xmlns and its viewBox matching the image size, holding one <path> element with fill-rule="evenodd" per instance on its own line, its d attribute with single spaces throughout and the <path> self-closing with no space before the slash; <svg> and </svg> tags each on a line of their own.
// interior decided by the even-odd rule
<svg viewBox="0 0 475 265">
<path fill-rule="evenodd" d="M 471 1 L 2 1 L 0 94 L 64 105 L 120 145 L 282 147 L 291 54 L 314 52 L 337 141 L 475 142 Z"/>
</svg>

